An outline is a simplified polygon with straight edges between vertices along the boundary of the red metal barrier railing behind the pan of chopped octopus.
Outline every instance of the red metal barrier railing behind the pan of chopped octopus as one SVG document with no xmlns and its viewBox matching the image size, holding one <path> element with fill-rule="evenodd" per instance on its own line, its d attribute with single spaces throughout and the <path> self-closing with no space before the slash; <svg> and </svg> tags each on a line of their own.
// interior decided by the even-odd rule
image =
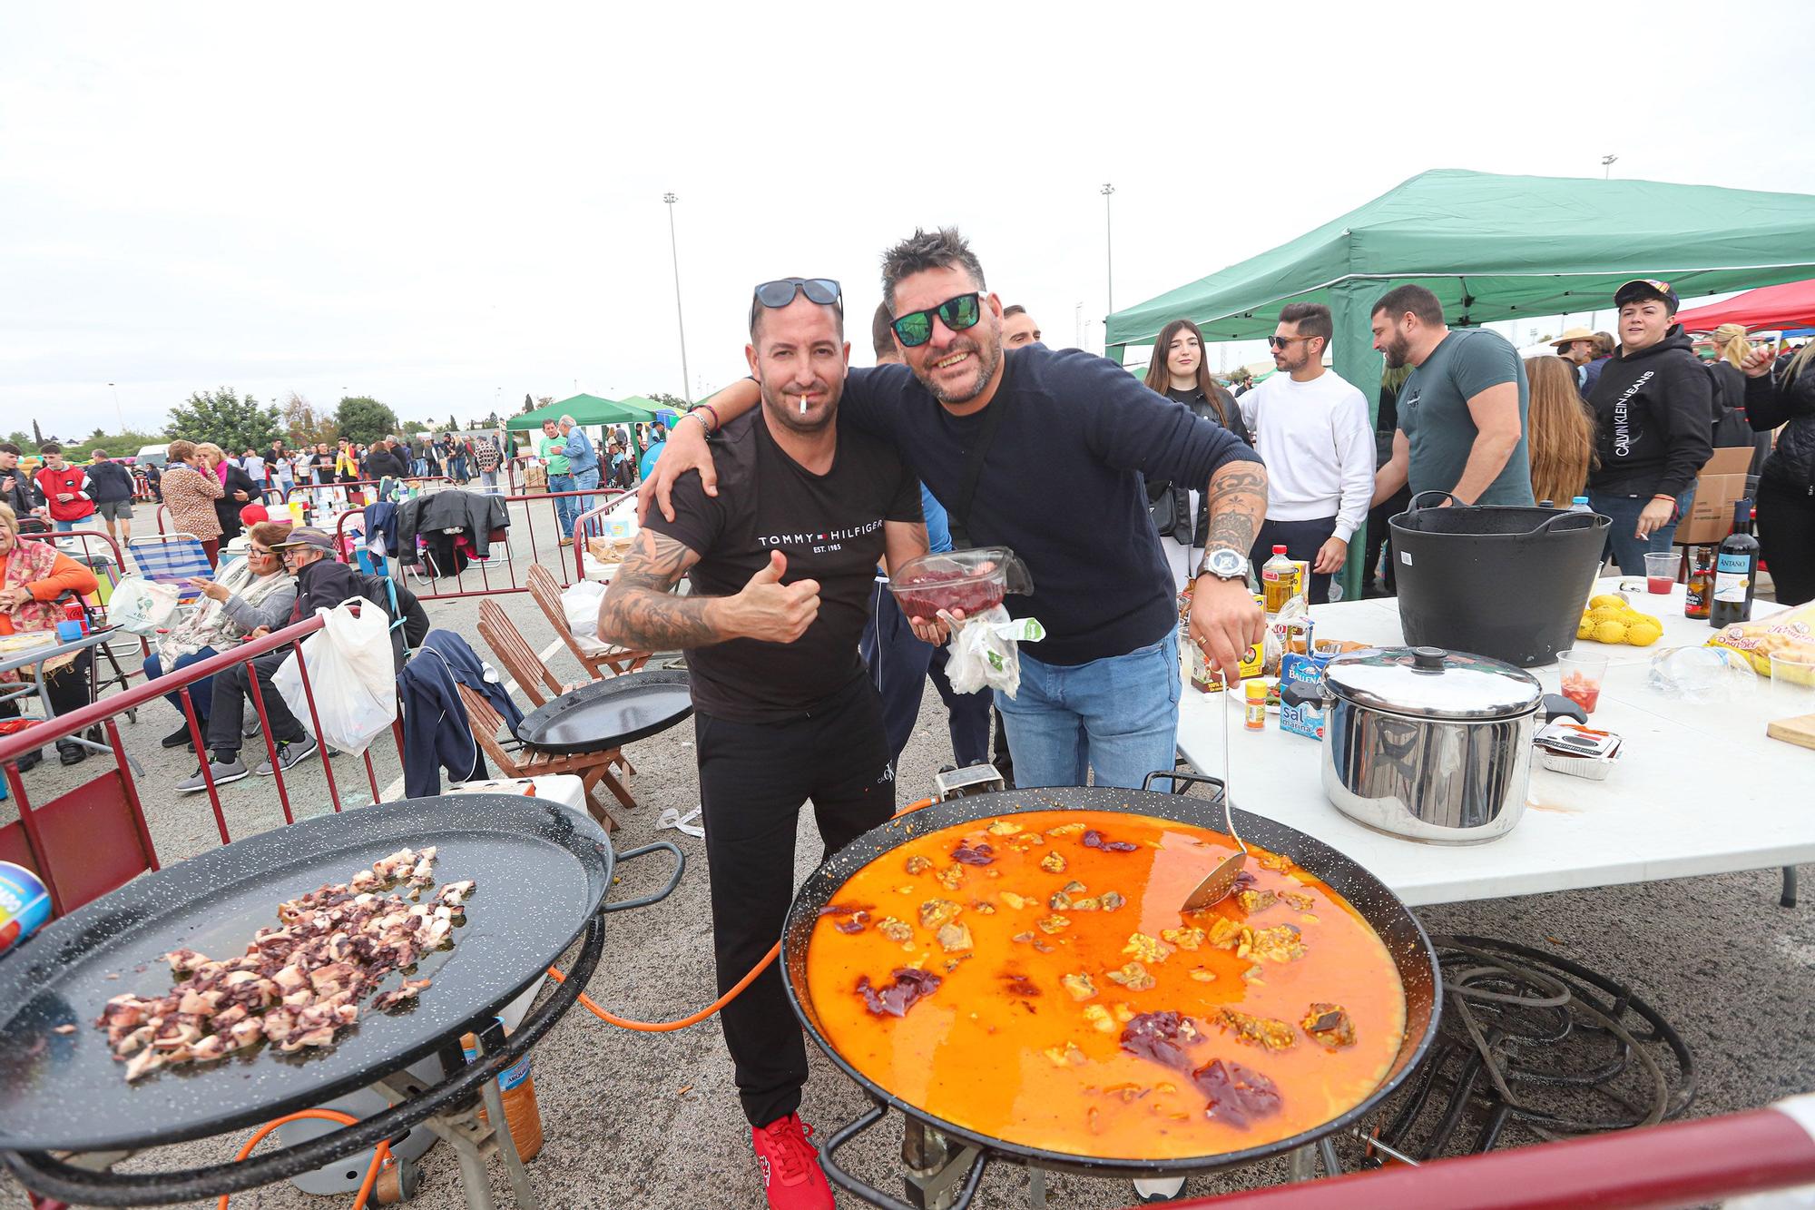
<svg viewBox="0 0 1815 1210">
<path fill-rule="evenodd" d="M 223 845 L 232 843 L 232 830 L 227 825 L 220 788 L 214 785 L 214 776 L 209 769 L 207 736 L 196 716 L 189 687 L 232 667 L 250 663 L 269 652 L 283 650 L 290 643 L 314 634 L 323 625 L 319 616 L 307 618 L 265 638 L 249 640 L 234 650 L 198 660 L 156 679 L 122 689 L 118 694 L 93 701 L 80 710 L 36 721 L 11 736 L 0 736 L 0 767 L 5 770 L 7 787 L 18 808 L 18 821 L 0 827 L 0 859 L 36 870 L 44 878 L 51 892 L 53 910 L 58 914 L 107 894 L 143 870 L 158 868 L 158 854 L 151 839 L 138 783 L 132 776 L 132 761 L 120 739 L 116 718 L 169 692 L 176 692 L 182 701 L 189 738 L 194 743 L 196 759 L 201 767 L 209 808 L 214 814 L 214 827 Z M 321 719 L 316 710 L 316 694 L 309 679 L 307 661 L 298 661 L 298 672 L 310 732 L 319 736 Z M 247 681 L 252 709 L 258 712 L 265 741 L 265 759 L 270 761 L 272 781 L 278 788 L 283 821 L 294 823 L 296 814 L 290 803 L 290 788 L 283 767 L 278 763 L 278 749 L 270 734 L 270 716 L 265 709 L 263 690 L 260 689 L 258 676 L 249 674 Z M 80 736 L 89 727 L 103 729 L 107 736 L 105 747 L 114 758 L 114 769 L 44 805 L 34 805 L 20 774 L 18 758 L 58 739 Z M 392 727 L 392 738 L 397 743 L 401 763 L 403 732 L 396 725 Z M 318 758 L 321 759 L 323 776 L 329 785 L 329 803 L 338 812 L 341 808 L 341 796 L 327 745 L 321 745 Z M 372 801 L 378 801 L 378 770 L 372 767 L 370 752 L 361 754 L 361 759 L 372 788 Z"/>
</svg>

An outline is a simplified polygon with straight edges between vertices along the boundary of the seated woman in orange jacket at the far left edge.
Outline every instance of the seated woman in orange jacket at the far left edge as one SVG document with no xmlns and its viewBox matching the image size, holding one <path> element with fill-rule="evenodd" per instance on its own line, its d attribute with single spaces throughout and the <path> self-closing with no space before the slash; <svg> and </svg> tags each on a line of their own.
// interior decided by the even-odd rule
<svg viewBox="0 0 1815 1210">
<path fill-rule="evenodd" d="M 18 518 L 13 509 L 0 505 L 0 634 L 20 634 L 25 630 L 54 630 L 64 620 L 64 610 L 54 605 L 65 592 L 87 596 L 100 585 L 94 572 L 62 554 L 49 541 L 20 541 Z M 58 656 L 44 665 L 45 690 L 53 714 L 69 714 L 89 703 L 89 665 L 93 652 L 82 649 L 69 656 Z M 18 689 L 18 672 L 0 672 L 0 683 L 7 692 Z M 18 698 L 0 701 L 0 718 L 18 716 Z M 65 765 L 87 759 L 89 750 L 71 738 L 56 741 L 56 754 Z M 27 752 L 18 758 L 20 772 L 44 759 L 44 752 Z"/>
</svg>

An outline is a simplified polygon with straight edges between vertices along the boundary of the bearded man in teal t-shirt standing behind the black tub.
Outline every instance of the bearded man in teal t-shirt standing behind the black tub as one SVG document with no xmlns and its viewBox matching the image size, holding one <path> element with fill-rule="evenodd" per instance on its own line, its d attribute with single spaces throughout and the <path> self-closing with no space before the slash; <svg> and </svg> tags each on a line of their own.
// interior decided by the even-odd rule
<svg viewBox="0 0 1815 1210">
<path fill-rule="evenodd" d="M 1412 367 L 1399 387 L 1392 460 L 1374 474 L 1374 503 L 1410 481 L 1414 496 L 1441 491 L 1468 505 L 1532 505 L 1530 385 L 1519 351 L 1485 329 L 1452 332 L 1443 303 L 1421 285 L 1387 293 L 1372 327 L 1387 365 Z"/>
</svg>

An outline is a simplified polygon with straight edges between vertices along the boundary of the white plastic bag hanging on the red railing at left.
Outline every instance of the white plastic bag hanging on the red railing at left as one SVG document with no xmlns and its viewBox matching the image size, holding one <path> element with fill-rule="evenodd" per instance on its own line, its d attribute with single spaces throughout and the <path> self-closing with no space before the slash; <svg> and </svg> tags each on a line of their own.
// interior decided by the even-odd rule
<svg viewBox="0 0 1815 1210">
<path fill-rule="evenodd" d="M 303 660 L 309 661 L 316 716 L 321 719 L 321 734 L 316 739 L 354 756 L 365 752 L 372 739 L 397 719 L 397 669 L 390 652 L 390 618 L 370 601 L 363 605 L 358 616 L 352 612 L 352 603 L 318 609 L 325 620 L 323 627 L 301 643 Z M 285 705 L 303 729 L 314 730 L 294 650 L 278 667 L 272 685 L 283 694 Z"/>
</svg>

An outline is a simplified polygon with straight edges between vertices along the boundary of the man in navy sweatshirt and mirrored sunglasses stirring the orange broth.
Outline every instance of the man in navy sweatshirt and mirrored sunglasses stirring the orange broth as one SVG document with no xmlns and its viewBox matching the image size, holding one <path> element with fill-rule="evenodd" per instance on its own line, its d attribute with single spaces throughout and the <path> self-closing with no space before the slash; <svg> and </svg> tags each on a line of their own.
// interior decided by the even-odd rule
<svg viewBox="0 0 1815 1210">
<path fill-rule="evenodd" d="M 1022 649 L 1016 696 L 996 694 L 1016 785 L 1084 785 L 1094 769 L 1098 785 L 1138 787 L 1171 770 L 1178 614 L 1143 476 L 1207 487 L 1191 636 L 1232 679 L 1263 636 L 1247 574 L 1267 511 L 1265 469 L 1231 432 L 1105 358 L 1044 345 L 1006 356 L 1002 303 L 957 231 L 917 231 L 882 265 L 908 367 L 851 371 L 844 414 L 895 445 L 946 505 L 955 536 L 1011 547 L 1033 572 L 1035 594 L 1007 605 L 1036 616 L 1045 640 L 1038 654 Z M 737 383 L 711 407 L 742 414 L 755 394 Z M 662 512 L 673 478 L 710 465 L 711 425 L 695 416 L 677 425 L 644 487 L 644 503 L 655 498 Z"/>
</svg>

